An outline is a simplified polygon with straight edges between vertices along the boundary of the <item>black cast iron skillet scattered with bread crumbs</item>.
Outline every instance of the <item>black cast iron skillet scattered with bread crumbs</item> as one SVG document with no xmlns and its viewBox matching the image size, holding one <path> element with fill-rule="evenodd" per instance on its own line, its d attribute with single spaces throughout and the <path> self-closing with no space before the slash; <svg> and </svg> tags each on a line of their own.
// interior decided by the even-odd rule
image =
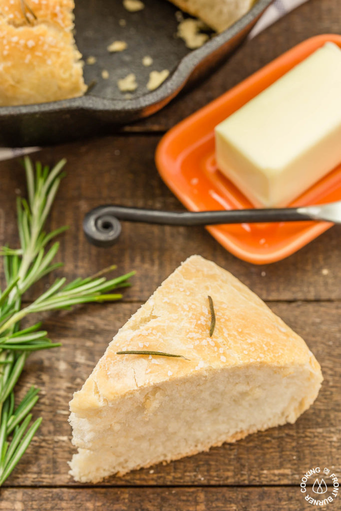
<svg viewBox="0 0 341 511">
<path fill-rule="evenodd" d="M 166 0 L 144 0 L 145 9 L 127 12 L 122 0 L 76 1 L 76 42 L 84 59 L 94 56 L 95 65 L 84 66 L 85 82 L 96 80 L 83 97 L 37 105 L 0 107 L 0 145 L 28 146 L 56 144 L 99 135 L 115 126 L 147 117 L 165 106 L 178 92 L 212 70 L 240 44 L 272 0 L 258 0 L 233 26 L 216 35 L 201 48 L 190 51 L 174 37 L 176 7 Z M 124 19 L 122 27 L 119 20 Z M 121 23 L 122 24 L 122 23 Z M 113 40 L 124 40 L 127 50 L 109 54 Z M 145 67 L 149 55 L 153 64 Z M 101 72 L 106 69 L 109 79 Z M 169 69 L 169 78 L 148 92 L 151 70 Z M 125 99 L 117 80 L 128 73 L 137 76 L 139 87 Z"/>
</svg>

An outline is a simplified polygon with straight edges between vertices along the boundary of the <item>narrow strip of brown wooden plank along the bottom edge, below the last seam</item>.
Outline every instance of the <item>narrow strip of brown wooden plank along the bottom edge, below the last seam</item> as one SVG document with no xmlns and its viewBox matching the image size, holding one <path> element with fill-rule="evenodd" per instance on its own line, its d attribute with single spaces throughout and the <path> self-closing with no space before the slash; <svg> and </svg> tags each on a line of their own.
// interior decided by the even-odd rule
<svg viewBox="0 0 341 511">
<path fill-rule="evenodd" d="M 29 503 L 29 507 L 28 507 Z M 334 504 L 334 506 L 333 506 Z M 336 509 L 336 502 L 331 504 Z M 1 511 L 311 511 L 299 487 L 4 489 Z"/>
</svg>

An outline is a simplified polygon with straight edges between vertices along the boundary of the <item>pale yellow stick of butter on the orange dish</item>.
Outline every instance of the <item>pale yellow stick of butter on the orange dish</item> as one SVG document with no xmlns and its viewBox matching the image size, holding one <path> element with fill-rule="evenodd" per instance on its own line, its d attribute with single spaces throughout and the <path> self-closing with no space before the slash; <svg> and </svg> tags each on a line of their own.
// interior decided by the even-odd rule
<svg viewBox="0 0 341 511">
<path fill-rule="evenodd" d="M 341 50 L 328 42 L 215 128 L 217 166 L 255 205 L 288 205 L 341 162 Z"/>
</svg>

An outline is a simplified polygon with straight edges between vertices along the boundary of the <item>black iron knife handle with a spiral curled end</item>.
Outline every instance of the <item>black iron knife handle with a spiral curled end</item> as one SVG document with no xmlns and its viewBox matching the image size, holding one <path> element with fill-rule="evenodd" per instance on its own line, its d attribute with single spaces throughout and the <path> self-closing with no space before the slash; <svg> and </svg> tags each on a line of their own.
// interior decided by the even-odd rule
<svg viewBox="0 0 341 511">
<path fill-rule="evenodd" d="M 89 211 L 83 221 L 87 240 L 93 245 L 107 247 L 117 242 L 121 234 L 120 220 L 163 225 L 214 225 L 258 222 L 296 222 L 311 220 L 306 212 L 299 208 L 275 208 L 252 210 L 222 210 L 198 212 L 172 212 L 145 210 L 138 207 L 105 205 Z"/>
</svg>

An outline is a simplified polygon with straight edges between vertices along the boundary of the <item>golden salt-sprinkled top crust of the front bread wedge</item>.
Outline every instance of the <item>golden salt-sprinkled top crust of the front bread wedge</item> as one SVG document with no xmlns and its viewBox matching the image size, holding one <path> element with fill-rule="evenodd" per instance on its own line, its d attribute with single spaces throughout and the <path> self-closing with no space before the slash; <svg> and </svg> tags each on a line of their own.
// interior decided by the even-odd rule
<svg viewBox="0 0 341 511">
<path fill-rule="evenodd" d="M 213 299 L 216 326 L 209 335 Z M 148 350 L 190 360 L 117 355 Z M 82 415 L 142 386 L 229 366 L 303 366 L 321 374 L 304 340 L 231 273 L 193 255 L 156 289 L 110 342 L 71 411 Z"/>
</svg>

